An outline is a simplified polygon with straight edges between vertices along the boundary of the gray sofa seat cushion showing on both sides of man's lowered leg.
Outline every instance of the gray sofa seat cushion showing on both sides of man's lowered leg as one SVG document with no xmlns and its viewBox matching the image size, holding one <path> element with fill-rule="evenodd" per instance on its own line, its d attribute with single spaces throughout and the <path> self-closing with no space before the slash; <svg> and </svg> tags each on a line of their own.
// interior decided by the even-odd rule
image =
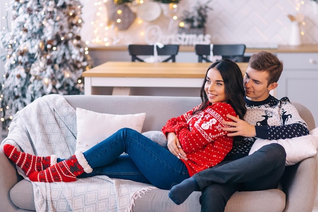
<svg viewBox="0 0 318 212">
<path fill-rule="evenodd" d="M 153 189 L 135 199 L 133 212 L 200 212 L 201 192 L 193 192 L 182 204 L 177 205 L 168 197 L 168 190 Z M 281 212 L 285 207 L 286 196 L 279 189 L 265 191 L 236 192 L 230 198 L 225 212 Z"/>
</svg>

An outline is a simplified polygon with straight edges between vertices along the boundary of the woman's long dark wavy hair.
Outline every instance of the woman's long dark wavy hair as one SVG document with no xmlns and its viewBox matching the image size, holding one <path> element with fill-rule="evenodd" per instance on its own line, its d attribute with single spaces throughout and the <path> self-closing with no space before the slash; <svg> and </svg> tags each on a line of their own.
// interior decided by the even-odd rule
<svg viewBox="0 0 318 212">
<path fill-rule="evenodd" d="M 201 100 L 202 105 L 200 110 L 205 109 L 208 106 L 208 97 L 204 90 L 204 85 L 206 83 L 207 73 L 210 69 L 215 68 L 218 70 L 223 78 L 225 84 L 225 93 L 228 97 L 228 103 L 233 107 L 236 114 L 243 119 L 246 113 L 245 107 L 245 90 L 243 87 L 243 76 L 238 65 L 230 59 L 221 59 L 213 63 L 207 70 L 205 78 L 203 80 L 203 85 L 201 87 Z"/>
</svg>

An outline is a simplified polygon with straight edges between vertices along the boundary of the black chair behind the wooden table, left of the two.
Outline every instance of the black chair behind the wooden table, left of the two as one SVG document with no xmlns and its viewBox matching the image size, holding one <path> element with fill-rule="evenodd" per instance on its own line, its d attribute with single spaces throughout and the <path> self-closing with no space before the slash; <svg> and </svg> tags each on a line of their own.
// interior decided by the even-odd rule
<svg viewBox="0 0 318 212">
<path fill-rule="evenodd" d="M 145 62 L 142 58 L 138 56 L 151 56 L 153 55 L 153 45 L 137 45 L 131 44 L 128 45 L 129 54 L 132 55 L 132 62 L 136 62 L 136 60 L 140 62 Z M 163 60 L 163 62 L 168 62 L 171 60 L 172 62 L 176 62 L 176 55 L 179 52 L 179 45 L 175 44 L 167 44 L 163 48 L 159 48 L 157 46 L 157 54 L 158 56 L 169 55 L 168 58 Z"/>
</svg>

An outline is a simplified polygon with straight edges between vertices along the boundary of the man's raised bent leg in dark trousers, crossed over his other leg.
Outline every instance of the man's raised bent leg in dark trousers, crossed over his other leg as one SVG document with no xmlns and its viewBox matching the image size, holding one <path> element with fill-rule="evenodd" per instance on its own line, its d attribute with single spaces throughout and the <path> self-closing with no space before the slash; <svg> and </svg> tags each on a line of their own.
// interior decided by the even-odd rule
<svg viewBox="0 0 318 212">
<path fill-rule="evenodd" d="M 205 169 L 193 177 L 201 190 L 211 184 L 244 183 L 258 178 L 274 175 L 280 178 L 285 169 L 286 153 L 284 148 L 272 143 L 263 146 L 255 153 L 244 158 L 225 163 L 215 168 Z M 277 183 L 277 182 L 276 182 Z M 272 185 L 267 185 L 272 187 Z"/>
</svg>

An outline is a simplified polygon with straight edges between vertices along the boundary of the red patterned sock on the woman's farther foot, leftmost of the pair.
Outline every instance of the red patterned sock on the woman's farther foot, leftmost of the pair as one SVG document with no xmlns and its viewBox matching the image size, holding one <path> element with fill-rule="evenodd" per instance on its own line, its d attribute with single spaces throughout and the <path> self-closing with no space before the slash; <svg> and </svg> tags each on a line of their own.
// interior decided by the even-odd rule
<svg viewBox="0 0 318 212">
<path fill-rule="evenodd" d="M 57 159 L 54 155 L 40 157 L 28 153 L 22 153 L 15 146 L 10 144 L 4 145 L 4 152 L 12 162 L 23 170 L 26 176 L 28 176 L 31 172 L 42 171 L 47 167 L 50 167 L 56 163 Z"/>
</svg>

